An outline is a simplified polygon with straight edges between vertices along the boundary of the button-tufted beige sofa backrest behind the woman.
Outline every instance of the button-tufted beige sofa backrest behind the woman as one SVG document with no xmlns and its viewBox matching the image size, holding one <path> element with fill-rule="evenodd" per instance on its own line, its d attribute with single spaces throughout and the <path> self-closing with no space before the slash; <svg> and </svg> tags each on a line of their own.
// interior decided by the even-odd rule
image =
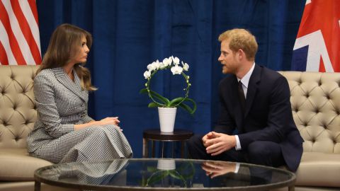
<svg viewBox="0 0 340 191">
<path fill-rule="evenodd" d="M 37 119 L 33 79 L 39 66 L 0 66 L 0 149 L 26 148 Z"/>
</svg>

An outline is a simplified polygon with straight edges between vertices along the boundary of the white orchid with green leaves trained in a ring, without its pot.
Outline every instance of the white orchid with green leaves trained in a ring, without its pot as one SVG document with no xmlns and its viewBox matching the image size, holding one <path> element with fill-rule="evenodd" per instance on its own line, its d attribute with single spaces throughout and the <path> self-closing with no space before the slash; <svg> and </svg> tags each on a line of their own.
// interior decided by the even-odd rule
<svg viewBox="0 0 340 191">
<path fill-rule="evenodd" d="M 164 69 L 170 69 L 173 75 L 181 74 L 184 79 L 186 80 L 186 88 L 183 88 L 185 91 L 184 97 L 174 98 L 173 100 L 169 100 L 168 98 L 165 98 L 164 96 L 161 96 L 159 93 L 156 93 L 155 91 L 152 91 L 150 89 L 150 81 L 152 79 L 152 76 L 157 73 L 159 70 Z M 152 99 L 152 103 L 149 103 L 149 108 L 176 108 L 180 107 L 189 112 L 191 115 L 196 111 L 196 102 L 188 98 L 189 94 L 189 88 L 191 86 L 191 83 L 189 83 L 189 76 L 184 74 L 184 71 L 188 71 L 189 65 L 185 62 L 181 62 L 178 57 L 169 57 L 163 59 L 163 62 L 159 62 L 157 59 L 156 61 L 152 62 L 152 64 L 147 65 L 147 71 L 144 72 L 144 77 L 147 79 L 147 83 L 145 83 L 145 87 L 143 88 L 140 93 L 148 93 L 149 98 Z M 189 102 L 193 105 L 191 106 L 187 105 L 184 102 Z"/>
</svg>

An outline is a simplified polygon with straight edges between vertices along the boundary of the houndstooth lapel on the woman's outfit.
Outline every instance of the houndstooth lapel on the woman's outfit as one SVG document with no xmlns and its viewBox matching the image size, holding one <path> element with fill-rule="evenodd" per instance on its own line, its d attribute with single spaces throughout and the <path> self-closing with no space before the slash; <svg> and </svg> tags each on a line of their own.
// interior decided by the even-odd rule
<svg viewBox="0 0 340 191">
<path fill-rule="evenodd" d="M 68 88 L 74 94 L 79 96 L 79 98 L 81 98 L 82 100 L 85 100 L 83 93 L 81 93 L 82 90 L 81 90 L 81 86 L 80 86 L 80 79 L 77 76 L 77 73 L 75 71 L 73 71 L 74 72 L 74 81 L 69 79 L 69 76 L 67 76 L 64 69 L 62 69 L 62 68 L 55 68 L 55 69 L 53 69 L 53 71 L 55 72 L 56 79 L 58 81 L 60 81 L 60 83 L 62 83 L 66 88 Z"/>
</svg>

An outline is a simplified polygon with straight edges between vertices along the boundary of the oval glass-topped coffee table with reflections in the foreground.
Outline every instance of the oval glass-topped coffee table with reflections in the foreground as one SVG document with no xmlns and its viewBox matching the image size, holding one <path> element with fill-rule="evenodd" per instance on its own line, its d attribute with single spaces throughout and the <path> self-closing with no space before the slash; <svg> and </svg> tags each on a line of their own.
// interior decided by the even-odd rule
<svg viewBox="0 0 340 191">
<path fill-rule="evenodd" d="M 40 184 L 77 190 L 294 190 L 287 170 L 247 163 L 192 159 L 130 158 L 62 163 L 35 170 Z"/>
</svg>

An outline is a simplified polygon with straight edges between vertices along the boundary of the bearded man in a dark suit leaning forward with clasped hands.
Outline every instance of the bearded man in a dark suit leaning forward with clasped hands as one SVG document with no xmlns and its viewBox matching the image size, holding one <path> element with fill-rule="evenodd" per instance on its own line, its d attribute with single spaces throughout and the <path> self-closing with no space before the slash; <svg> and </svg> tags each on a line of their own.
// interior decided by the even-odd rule
<svg viewBox="0 0 340 191">
<path fill-rule="evenodd" d="M 220 119 L 213 132 L 188 141 L 191 157 L 295 171 L 303 139 L 293 121 L 287 80 L 255 64 L 258 45 L 249 31 L 227 30 L 218 40 L 218 61 L 227 74 L 219 86 Z"/>
</svg>

